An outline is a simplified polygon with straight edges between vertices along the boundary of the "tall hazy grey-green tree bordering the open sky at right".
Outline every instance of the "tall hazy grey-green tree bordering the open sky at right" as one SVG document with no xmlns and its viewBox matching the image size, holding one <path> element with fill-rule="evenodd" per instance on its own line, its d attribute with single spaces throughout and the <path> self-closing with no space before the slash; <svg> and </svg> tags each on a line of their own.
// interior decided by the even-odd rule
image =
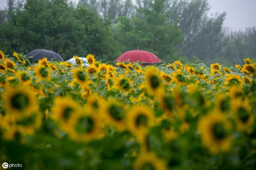
<svg viewBox="0 0 256 170">
<path fill-rule="evenodd" d="M 221 28 L 226 14 L 209 18 L 209 9 L 207 0 L 167 0 L 166 13 L 172 14 L 170 21 L 179 21 L 184 36 L 182 55 L 189 59 L 192 56 L 202 60 L 213 59 L 221 51 L 224 36 Z"/>
</svg>

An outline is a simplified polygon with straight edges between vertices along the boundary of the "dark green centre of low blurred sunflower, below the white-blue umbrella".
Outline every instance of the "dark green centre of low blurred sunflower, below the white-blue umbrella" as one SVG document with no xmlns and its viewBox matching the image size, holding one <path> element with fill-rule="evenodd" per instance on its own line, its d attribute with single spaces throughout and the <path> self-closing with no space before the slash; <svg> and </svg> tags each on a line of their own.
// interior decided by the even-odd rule
<svg viewBox="0 0 256 170">
<path fill-rule="evenodd" d="M 81 117 L 76 123 L 78 133 L 90 133 L 93 131 L 94 121 L 91 117 Z"/>
</svg>

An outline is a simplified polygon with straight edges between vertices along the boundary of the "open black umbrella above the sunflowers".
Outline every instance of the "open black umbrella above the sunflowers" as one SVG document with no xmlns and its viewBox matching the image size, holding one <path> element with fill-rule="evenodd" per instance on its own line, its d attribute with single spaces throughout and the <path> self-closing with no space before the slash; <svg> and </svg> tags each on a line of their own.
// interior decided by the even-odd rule
<svg viewBox="0 0 256 170">
<path fill-rule="evenodd" d="M 31 51 L 27 55 L 27 58 L 32 63 L 37 63 L 38 60 L 41 60 L 45 57 L 47 58 L 48 61 L 64 61 L 58 53 L 55 53 L 54 51 L 50 51 L 46 49 L 36 49 L 34 51 Z"/>
</svg>

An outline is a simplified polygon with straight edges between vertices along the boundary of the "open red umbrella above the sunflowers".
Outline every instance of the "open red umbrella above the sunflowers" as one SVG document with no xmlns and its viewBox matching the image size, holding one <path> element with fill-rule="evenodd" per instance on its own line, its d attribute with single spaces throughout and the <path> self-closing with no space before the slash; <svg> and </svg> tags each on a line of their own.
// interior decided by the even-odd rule
<svg viewBox="0 0 256 170">
<path fill-rule="evenodd" d="M 136 62 L 139 61 L 139 63 L 160 63 L 161 60 L 156 57 L 153 53 L 150 53 L 148 51 L 142 51 L 142 50 L 133 50 L 133 51 L 126 51 L 125 53 L 122 53 L 117 59 L 117 62 L 121 61 L 128 61 L 128 62 Z"/>
</svg>

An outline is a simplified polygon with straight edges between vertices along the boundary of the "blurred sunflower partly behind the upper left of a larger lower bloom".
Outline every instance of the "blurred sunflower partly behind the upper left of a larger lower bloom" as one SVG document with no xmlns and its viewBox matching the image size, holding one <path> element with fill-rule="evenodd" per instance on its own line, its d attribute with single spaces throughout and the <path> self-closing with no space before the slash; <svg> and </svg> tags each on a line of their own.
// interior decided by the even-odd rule
<svg viewBox="0 0 256 170">
<path fill-rule="evenodd" d="M 70 117 L 77 114 L 79 106 L 70 97 L 56 97 L 54 98 L 54 106 L 52 107 L 51 118 L 60 122 L 60 127 L 64 131 L 70 128 Z"/>
</svg>

